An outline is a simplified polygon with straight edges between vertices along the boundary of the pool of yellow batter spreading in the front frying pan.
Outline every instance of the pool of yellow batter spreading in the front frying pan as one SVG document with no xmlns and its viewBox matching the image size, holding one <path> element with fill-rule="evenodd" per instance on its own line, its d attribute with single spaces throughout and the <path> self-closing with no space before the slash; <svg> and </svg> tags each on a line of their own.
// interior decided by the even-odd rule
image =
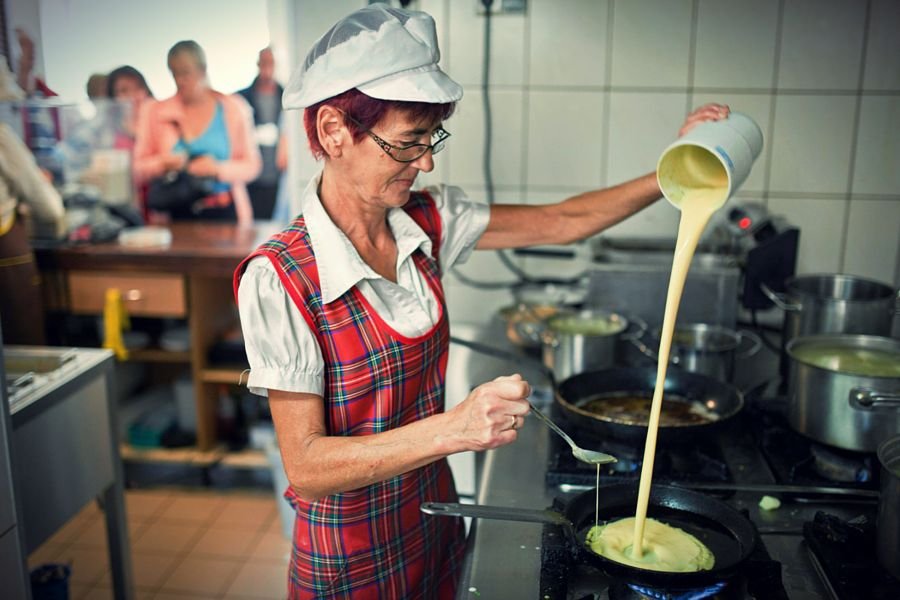
<svg viewBox="0 0 900 600">
<path fill-rule="evenodd" d="M 708 571 L 715 564 L 713 553 L 703 542 L 656 519 L 644 522 L 644 552 L 640 558 L 632 557 L 633 540 L 633 517 L 591 527 L 587 535 L 591 550 L 597 554 L 639 569 L 688 573 Z"/>
</svg>

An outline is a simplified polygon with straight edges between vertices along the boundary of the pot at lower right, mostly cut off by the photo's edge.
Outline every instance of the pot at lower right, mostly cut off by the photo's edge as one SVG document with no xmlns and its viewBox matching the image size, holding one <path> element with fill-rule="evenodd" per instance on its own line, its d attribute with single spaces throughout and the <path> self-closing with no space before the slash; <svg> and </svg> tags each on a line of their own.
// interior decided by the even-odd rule
<svg viewBox="0 0 900 600">
<path fill-rule="evenodd" d="M 900 579 L 900 435 L 878 447 L 881 498 L 878 501 L 876 552 L 878 562 Z"/>
</svg>

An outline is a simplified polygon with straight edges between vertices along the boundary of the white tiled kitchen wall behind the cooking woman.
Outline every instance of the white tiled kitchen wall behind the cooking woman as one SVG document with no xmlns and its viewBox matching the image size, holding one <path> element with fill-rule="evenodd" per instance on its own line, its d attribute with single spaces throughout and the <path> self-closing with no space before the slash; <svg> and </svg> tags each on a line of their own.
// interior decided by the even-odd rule
<svg viewBox="0 0 900 600">
<path fill-rule="evenodd" d="M 364 4 L 300 0 L 296 31 L 307 39 L 297 47 Z M 466 90 L 447 124 L 448 149 L 423 181 L 480 199 L 484 20 L 475 5 L 411 7 L 435 17 L 442 66 Z M 897 0 L 529 0 L 524 15 L 492 23 L 499 201 L 550 202 L 649 172 L 691 107 L 724 101 L 766 137 L 738 199 L 762 201 L 800 226 L 799 271 L 900 284 Z M 300 178 L 314 168 L 301 161 Z M 661 202 L 613 232 L 674 235 L 676 223 Z M 464 272 L 509 278 L 489 255 Z M 486 322 L 510 298 L 452 276 L 445 285 L 459 321 Z"/>
</svg>

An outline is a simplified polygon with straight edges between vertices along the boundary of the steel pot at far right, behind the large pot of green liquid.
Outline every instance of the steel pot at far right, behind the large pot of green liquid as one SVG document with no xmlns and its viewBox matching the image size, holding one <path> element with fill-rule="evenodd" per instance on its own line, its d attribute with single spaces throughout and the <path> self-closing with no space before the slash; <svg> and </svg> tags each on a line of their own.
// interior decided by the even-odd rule
<svg viewBox="0 0 900 600">
<path fill-rule="evenodd" d="M 784 310 L 781 374 L 790 377 L 787 344 L 794 338 L 824 333 L 891 335 L 900 295 L 891 286 L 852 275 L 801 275 L 785 282 L 785 293 L 763 292 Z"/>
</svg>

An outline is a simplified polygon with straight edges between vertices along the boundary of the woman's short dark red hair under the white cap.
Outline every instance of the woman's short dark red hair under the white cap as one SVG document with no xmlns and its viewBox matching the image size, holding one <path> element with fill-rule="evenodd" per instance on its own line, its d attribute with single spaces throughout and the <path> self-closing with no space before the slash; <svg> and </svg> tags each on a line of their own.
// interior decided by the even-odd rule
<svg viewBox="0 0 900 600">
<path fill-rule="evenodd" d="M 319 109 L 326 104 L 350 115 L 359 123 L 358 126 L 353 121 L 347 122 L 347 128 L 353 135 L 354 143 L 359 142 L 362 136 L 365 135 L 366 130 L 377 125 L 388 110 L 392 108 L 406 113 L 414 121 L 428 121 L 430 123 L 440 123 L 449 119 L 456 108 L 455 102 L 432 104 L 430 102 L 380 100 L 367 96 L 356 88 L 347 90 L 337 96 L 332 96 L 327 100 L 308 106 L 303 111 L 303 126 L 306 128 L 309 149 L 317 160 L 325 154 L 325 149 L 322 148 L 322 144 L 319 142 L 319 135 L 316 131 L 316 117 L 319 114 Z"/>
</svg>

